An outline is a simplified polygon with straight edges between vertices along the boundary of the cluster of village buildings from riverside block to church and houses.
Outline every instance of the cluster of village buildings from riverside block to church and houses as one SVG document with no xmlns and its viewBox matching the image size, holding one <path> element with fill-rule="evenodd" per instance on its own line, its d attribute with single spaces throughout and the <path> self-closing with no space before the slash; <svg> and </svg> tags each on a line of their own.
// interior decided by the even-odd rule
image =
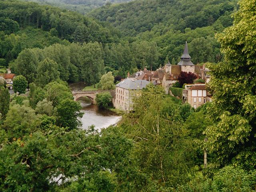
<svg viewBox="0 0 256 192">
<path fill-rule="evenodd" d="M 182 85 L 184 88 L 173 87 L 174 84 L 178 84 L 178 78 L 182 72 L 184 74 L 194 74 L 194 82 Z M 116 94 L 112 102 L 115 108 L 130 111 L 132 110 L 134 96 L 138 95 L 139 90 L 152 83 L 155 86 L 162 86 L 166 94 L 176 96 L 196 109 L 206 102 L 211 102 L 212 94 L 206 89 L 206 84 L 210 81 L 208 72 L 209 70 L 205 67 L 205 64 L 198 66 L 192 63 L 186 42 L 184 52 L 177 65 L 168 62 L 156 71 L 144 68 L 144 70 L 132 75 L 128 73 L 126 79 L 116 84 Z M 174 94 L 172 90 L 179 93 Z"/>
</svg>

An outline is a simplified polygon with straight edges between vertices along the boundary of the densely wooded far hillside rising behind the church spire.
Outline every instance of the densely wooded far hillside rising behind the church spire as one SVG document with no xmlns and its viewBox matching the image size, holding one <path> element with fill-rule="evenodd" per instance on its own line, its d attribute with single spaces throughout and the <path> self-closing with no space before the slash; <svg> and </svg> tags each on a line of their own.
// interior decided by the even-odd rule
<svg viewBox="0 0 256 192">
<path fill-rule="evenodd" d="M 136 36 L 148 30 L 160 34 L 173 29 L 202 28 L 219 20 L 230 26 L 230 14 L 237 9 L 237 0 L 136 0 L 125 4 L 106 5 L 88 15 L 110 22 L 126 35 Z"/>
</svg>

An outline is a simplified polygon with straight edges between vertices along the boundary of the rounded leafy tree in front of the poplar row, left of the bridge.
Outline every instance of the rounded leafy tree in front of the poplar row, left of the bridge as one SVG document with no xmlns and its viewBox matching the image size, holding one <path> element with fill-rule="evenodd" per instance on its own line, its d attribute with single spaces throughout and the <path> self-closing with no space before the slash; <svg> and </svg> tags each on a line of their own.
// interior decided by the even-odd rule
<svg viewBox="0 0 256 192">
<path fill-rule="evenodd" d="M 46 86 L 52 81 L 56 81 L 60 78 L 60 72 L 58 72 L 58 64 L 53 60 L 46 58 L 44 61 L 38 64 L 36 83 L 42 87 Z"/>
</svg>

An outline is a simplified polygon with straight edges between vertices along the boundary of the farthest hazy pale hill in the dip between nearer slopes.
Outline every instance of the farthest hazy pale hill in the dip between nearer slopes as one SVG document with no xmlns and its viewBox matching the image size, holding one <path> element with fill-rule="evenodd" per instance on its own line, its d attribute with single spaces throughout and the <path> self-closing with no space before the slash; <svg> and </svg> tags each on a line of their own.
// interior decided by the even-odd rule
<svg viewBox="0 0 256 192">
<path fill-rule="evenodd" d="M 132 0 L 25 0 L 31 2 L 38 2 L 40 4 L 47 4 L 52 6 L 58 6 L 72 11 L 77 11 L 85 14 L 92 10 L 105 5 L 106 3 L 122 3 L 130 2 Z"/>
</svg>

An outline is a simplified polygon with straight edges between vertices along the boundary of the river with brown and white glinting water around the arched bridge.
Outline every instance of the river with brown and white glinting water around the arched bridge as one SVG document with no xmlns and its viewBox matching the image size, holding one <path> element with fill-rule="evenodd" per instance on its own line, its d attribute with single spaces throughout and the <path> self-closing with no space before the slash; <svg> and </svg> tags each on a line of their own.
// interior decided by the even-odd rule
<svg viewBox="0 0 256 192">
<path fill-rule="evenodd" d="M 71 90 L 74 91 L 82 90 L 83 86 L 83 83 L 70 84 Z M 82 106 L 81 112 L 84 113 L 83 117 L 80 119 L 83 129 L 94 125 L 95 129 L 100 130 L 116 124 L 121 119 L 121 116 L 117 116 L 114 112 L 109 110 L 98 108 L 97 105 L 91 104 L 90 100 L 86 98 L 80 98 L 78 102 L 80 102 Z"/>
</svg>

